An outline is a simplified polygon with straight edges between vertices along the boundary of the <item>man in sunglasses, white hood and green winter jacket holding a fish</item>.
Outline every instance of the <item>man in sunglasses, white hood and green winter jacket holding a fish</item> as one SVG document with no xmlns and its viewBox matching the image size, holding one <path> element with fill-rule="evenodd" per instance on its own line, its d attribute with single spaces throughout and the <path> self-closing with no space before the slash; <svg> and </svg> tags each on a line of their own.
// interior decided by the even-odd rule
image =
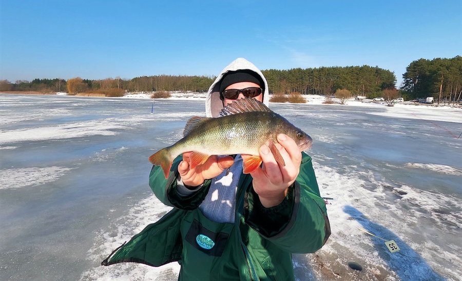
<svg viewBox="0 0 462 281">
<path fill-rule="evenodd" d="M 227 104 L 255 98 L 268 105 L 268 85 L 254 64 L 238 58 L 210 86 L 207 117 Z M 267 145 L 263 165 L 242 173 L 242 158 L 210 156 L 189 168 L 189 154 L 177 157 L 166 180 L 153 166 L 149 185 L 164 204 L 175 207 L 149 225 L 103 265 L 140 262 L 181 264 L 179 280 L 291 280 L 291 253 L 321 248 L 330 235 L 311 157 L 295 141 L 278 135 L 280 167 Z"/>
</svg>

